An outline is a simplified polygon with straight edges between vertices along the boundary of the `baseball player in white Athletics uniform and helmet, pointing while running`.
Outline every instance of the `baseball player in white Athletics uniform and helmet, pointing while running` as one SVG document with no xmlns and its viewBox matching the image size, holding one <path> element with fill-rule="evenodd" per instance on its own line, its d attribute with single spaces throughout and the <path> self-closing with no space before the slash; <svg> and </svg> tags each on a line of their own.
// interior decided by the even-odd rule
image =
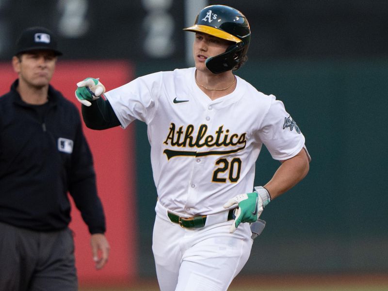
<svg viewBox="0 0 388 291">
<path fill-rule="evenodd" d="M 245 16 L 212 5 L 185 30 L 195 32 L 195 67 L 146 75 L 107 93 L 98 79 L 86 78 L 76 97 L 91 129 L 147 124 L 160 289 L 224 291 L 249 258 L 250 223 L 306 176 L 310 158 L 283 103 L 233 74 L 251 37 Z M 254 187 L 263 145 L 280 166 Z"/>
</svg>

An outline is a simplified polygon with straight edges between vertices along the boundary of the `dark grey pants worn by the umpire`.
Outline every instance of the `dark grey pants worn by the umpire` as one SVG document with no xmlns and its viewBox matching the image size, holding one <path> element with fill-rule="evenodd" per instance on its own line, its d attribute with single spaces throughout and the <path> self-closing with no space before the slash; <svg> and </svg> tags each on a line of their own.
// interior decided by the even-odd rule
<svg viewBox="0 0 388 291">
<path fill-rule="evenodd" d="M 0 222 L 0 291 L 77 291 L 71 230 L 40 232 Z"/>
</svg>

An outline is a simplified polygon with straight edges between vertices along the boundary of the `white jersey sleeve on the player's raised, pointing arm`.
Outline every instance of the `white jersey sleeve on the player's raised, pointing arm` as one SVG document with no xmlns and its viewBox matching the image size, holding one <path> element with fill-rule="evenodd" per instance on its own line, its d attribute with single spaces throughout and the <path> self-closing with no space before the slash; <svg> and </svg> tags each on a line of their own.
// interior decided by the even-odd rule
<svg viewBox="0 0 388 291">
<path fill-rule="evenodd" d="M 153 73 L 105 93 L 123 128 L 135 119 L 146 124 L 152 120 L 162 90 L 161 80 L 161 73 Z"/>
</svg>

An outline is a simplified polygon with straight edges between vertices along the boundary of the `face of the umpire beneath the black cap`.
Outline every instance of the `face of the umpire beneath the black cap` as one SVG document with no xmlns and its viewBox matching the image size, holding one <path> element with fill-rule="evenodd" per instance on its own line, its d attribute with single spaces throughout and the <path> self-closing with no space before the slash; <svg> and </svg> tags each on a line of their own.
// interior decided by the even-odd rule
<svg viewBox="0 0 388 291">
<path fill-rule="evenodd" d="M 19 82 L 35 88 L 49 85 L 56 62 L 57 57 L 51 50 L 33 50 L 12 58 Z"/>
</svg>

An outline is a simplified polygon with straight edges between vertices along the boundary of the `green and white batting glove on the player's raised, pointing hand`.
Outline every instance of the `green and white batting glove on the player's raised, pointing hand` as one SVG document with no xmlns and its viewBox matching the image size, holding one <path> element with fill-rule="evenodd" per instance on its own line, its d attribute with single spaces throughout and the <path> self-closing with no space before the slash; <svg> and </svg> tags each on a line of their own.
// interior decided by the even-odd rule
<svg viewBox="0 0 388 291">
<path fill-rule="evenodd" d="M 86 78 L 78 82 L 77 87 L 76 98 L 86 106 L 92 105 L 91 101 L 98 99 L 101 94 L 105 93 L 104 85 L 95 78 Z"/>
</svg>

